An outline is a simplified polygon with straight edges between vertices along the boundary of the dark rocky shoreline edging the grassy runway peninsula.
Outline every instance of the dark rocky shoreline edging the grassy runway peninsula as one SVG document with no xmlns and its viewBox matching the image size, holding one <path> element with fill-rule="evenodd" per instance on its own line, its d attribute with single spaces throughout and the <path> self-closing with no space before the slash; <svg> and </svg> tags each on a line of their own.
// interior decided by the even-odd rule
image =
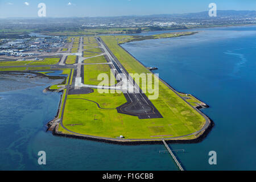
<svg viewBox="0 0 256 182">
<path fill-rule="evenodd" d="M 118 44 L 119 47 L 121 47 L 125 52 L 129 53 L 126 49 L 124 49 L 122 46 L 120 46 Z M 131 57 L 133 57 L 136 61 L 138 61 L 139 64 L 141 64 L 145 69 L 147 69 L 142 63 L 141 61 L 137 60 L 133 55 L 131 55 L 131 53 L 129 53 L 129 55 Z M 147 69 L 148 70 L 148 69 Z M 150 71 L 150 70 L 148 70 Z M 2 72 L 2 73 L 34 73 L 36 76 L 43 76 L 43 77 L 49 77 L 49 78 L 64 78 L 64 82 L 65 80 L 67 80 L 67 77 L 61 77 L 61 76 L 47 76 L 44 75 L 43 73 L 38 73 L 38 72 L 33 72 L 33 71 L 6 71 L 6 72 Z M 150 71 L 152 74 L 154 74 L 152 71 Z M 181 97 L 179 95 L 180 92 L 177 92 L 174 88 L 172 88 L 171 85 L 167 84 L 167 82 L 165 82 L 164 80 L 162 80 L 162 78 L 159 78 L 160 81 L 163 82 L 163 84 L 165 84 L 166 86 L 168 86 L 168 88 L 170 88 L 173 92 L 175 92 L 175 94 L 177 94 L 177 96 L 179 96 L 183 101 L 187 102 L 183 97 Z M 61 92 L 63 90 L 51 90 L 49 89 L 49 87 L 47 87 L 46 89 L 43 90 L 43 92 Z M 192 96 L 192 95 L 191 95 Z M 61 137 L 71 137 L 71 138 L 79 138 L 79 139 L 89 139 L 89 140 L 95 140 L 95 141 L 100 141 L 100 142 L 107 142 L 107 143 L 116 143 L 116 144 L 157 144 L 157 143 L 162 143 L 163 138 L 155 138 L 155 139 L 118 139 L 118 138 L 106 138 L 106 137 L 97 137 L 97 136 L 90 136 L 90 135 L 83 135 L 83 134 L 65 134 L 65 133 L 59 133 L 57 132 L 56 128 L 60 125 L 59 122 L 59 114 L 61 112 L 61 103 L 63 100 L 64 94 L 61 94 L 61 99 L 59 101 L 59 109 L 55 115 L 55 117 L 53 119 L 51 119 L 51 121 L 49 121 L 46 126 L 47 126 L 47 131 L 50 130 L 52 131 L 53 135 L 58 135 Z M 192 96 L 194 97 L 194 96 Z M 197 99 L 198 100 L 198 99 Z M 198 100 L 199 102 L 201 102 L 200 100 Z M 201 102 L 204 104 L 204 102 Z M 187 134 L 187 135 L 183 135 L 183 136 L 179 136 L 179 137 L 170 137 L 170 138 L 164 138 L 164 140 L 166 140 L 167 143 L 197 143 L 197 142 L 201 142 L 205 137 L 207 137 L 208 133 L 210 132 L 210 130 L 212 129 L 212 127 L 214 126 L 213 121 L 208 118 L 204 113 L 202 113 L 199 109 L 199 107 L 197 106 L 192 106 L 191 104 L 189 104 L 187 102 L 188 105 L 190 105 L 193 109 L 195 109 L 200 115 L 202 115 L 205 118 L 205 124 L 203 125 L 203 127 L 201 127 L 200 130 L 191 133 L 191 134 Z M 205 104 L 205 106 L 208 106 Z M 68 130 L 67 130 L 68 131 Z M 191 139 L 183 139 L 185 137 L 190 137 L 192 136 L 193 138 Z"/>
</svg>

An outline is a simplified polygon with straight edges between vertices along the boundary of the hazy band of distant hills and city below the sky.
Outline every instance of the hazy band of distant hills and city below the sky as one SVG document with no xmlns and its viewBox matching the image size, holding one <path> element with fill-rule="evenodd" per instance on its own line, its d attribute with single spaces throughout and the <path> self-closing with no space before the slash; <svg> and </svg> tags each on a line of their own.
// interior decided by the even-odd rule
<svg viewBox="0 0 256 182">
<path fill-rule="evenodd" d="M 63 32 L 83 31 L 89 28 L 111 27 L 150 27 L 150 30 L 163 30 L 163 23 L 171 29 L 190 27 L 210 27 L 237 24 L 256 24 L 256 11 L 217 10 L 216 17 L 210 17 L 208 11 L 184 14 L 129 15 L 105 17 L 66 17 L 66 18 L 0 18 L 0 30 L 11 32 L 12 28 L 26 32 L 46 31 Z M 24 34 L 24 32 L 23 32 Z"/>
</svg>

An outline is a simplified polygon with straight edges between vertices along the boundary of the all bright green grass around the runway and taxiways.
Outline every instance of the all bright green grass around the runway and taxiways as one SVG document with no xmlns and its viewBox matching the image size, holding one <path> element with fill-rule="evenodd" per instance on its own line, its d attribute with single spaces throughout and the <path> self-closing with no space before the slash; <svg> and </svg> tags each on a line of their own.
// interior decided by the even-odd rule
<svg viewBox="0 0 256 182">
<path fill-rule="evenodd" d="M 152 75 L 150 71 L 138 63 L 138 61 L 130 56 L 129 53 L 118 46 L 118 43 L 120 43 L 119 41 L 126 41 L 127 39 L 131 40 L 131 36 L 101 36 L 101 38 L 121 64 L 126 68 L 127 72 L 139 74 L 147 73 Z M 76 41 L 79 40 L 79 38 L 75 39 Z M 71 40 L 71 38 L 69 38 L 69 40 Z M 84 42 L 89 43 L 94 41 L 94 38 L 84 38 Z M 85 57 L 98 55 L 97 53 L 90 53 L 86 51 L 84 51 L 84 53 Z M 76 56 L 68 57 L 66 63 L 75 63 L 75 57 Z M 8 66 L 9 64 L 31 64 L 38 65 L 38 67 L 28 67 L 28 70 L 39 70 L 50 69 L 50 67 L 40 67 L 40 65 L 56 64 L 58 61 L 59 57 L 46 58 L 42 61 L 30 61 L 29 63 L 24 61 L 1 61 L 0 66 L 1 64 L 3 64 L 3 66 Z M 84 63 L 106 63 L 106 60 L 104 56 L 98 56 L 86 59 L 84 60 Z M 0 71 L 18 71 L 19 69 L 25 70 L 26 65 L 20 68 L 0 68 Z M 100 73 L 106 73 L 109 77 L 110 74 L 112 74 L 112 72 L 110 72 L 109 65 L 106 64 L 84 65 L 84 84 L 98 85 L 101 82 L 97 80 L 97 76 Z M 67 75 L 65 85 L 68 84 L 69 78 L 71 78 L 72 82 L 72 75 L 74 74 L 73 69 L 63 69 L 62 74 Z M 145 90 L 145 92 L 147 91 L 141 84 L 139 85 Z M 52 85 L 51 88 L 58 89 L 57 86 L 58 85 Z M 195 131 L 200 130 L 205 123 L 205 119 L 197 113 L 193 107 L 189 106 L 187 102 L 181 99 L 178 94 L 182 97 L 189 97 L 186 101 L 191 103 L 193 106 L 196 105 L 193 102 L 200 102 L 199 100 L 191 95 L 185 96 L 184 94 L 176 93 L 161 81 L 159 82 L 159 97 L 156 100 L 151 100 L 151 102 L 155 105 L 156 109 L 159 110 L 160 114 L 163 115 L 163 118 L 138 119 L 138 117 L 131 115 L 119 114 L 115 108 L 126 102 L 123 94 L 99 93 L 98 91 L 102 90 L 94 89 L 93 93 L 67 96 L 68 99 L 66 101 L 63 116 L 64 127 L 76 133 L 94 135 L 98 137 L 117 138 L 119 135 L 123 135 L 126 139 L 161 139 L 180 137 L 182 135 L 194 133 Z M 65 97 L 66 92 L 67 90 L 64 89 L 63 98 Z M 149 97 L 151 94 L 146 92 L 146 95 Z M 63 109 L 63 98 L 61 100 L 61 109 Z M 92 101 L 97 102 L 100 107 L 104 109 L 100 109 L 97 104 Z M 59 118 L 60 117 L 61 110 Z M 60 126 L 58 131 L 69 133 Z M 196 138 L 196 136 L 190 135 L 182 139 L 191 138 Z"/>
</svg>

